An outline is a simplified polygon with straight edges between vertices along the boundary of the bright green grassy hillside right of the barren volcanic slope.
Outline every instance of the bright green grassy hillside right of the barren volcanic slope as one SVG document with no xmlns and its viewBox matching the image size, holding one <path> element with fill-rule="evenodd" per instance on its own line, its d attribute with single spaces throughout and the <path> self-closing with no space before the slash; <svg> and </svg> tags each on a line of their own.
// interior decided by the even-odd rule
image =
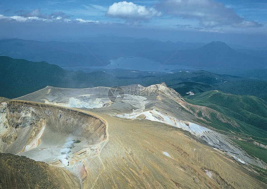
<svg viewBox="0 0 267 189">
<path fill-rule="evenodd" d="M 191 104 L 212 108 L 233 118 L 240 127 L 217 124 L 211 117 L 210 126 L 227 131 L 241 148 L 249 155 L 260 158 L 267 163 L 267 149 L 252 144 L 252 141 L 267 145 L 267 102 L 254 96 L 224 94 L 218 91 L 203 92 L 185 99 Z M 229 130 L 233 132 L 229 132 Z"/>
</svg>

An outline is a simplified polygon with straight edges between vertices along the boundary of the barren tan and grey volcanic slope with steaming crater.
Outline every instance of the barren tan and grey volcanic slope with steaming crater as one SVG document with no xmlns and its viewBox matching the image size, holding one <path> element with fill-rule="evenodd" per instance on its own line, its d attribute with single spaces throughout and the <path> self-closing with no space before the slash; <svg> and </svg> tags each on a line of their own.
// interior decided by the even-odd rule
<svg viewBox="0 0 267 189">
<path fill-rule="evenodd" d="M 83 188 L 267 187 L 266 172 L 251 165 L 266 164 L 204 119 L 212 112 L 237 127 L 231 118 L 165 84 L 109 91 L 46 87 L 2 102 L 1 152 L 64 167 Z"/>
</svg>

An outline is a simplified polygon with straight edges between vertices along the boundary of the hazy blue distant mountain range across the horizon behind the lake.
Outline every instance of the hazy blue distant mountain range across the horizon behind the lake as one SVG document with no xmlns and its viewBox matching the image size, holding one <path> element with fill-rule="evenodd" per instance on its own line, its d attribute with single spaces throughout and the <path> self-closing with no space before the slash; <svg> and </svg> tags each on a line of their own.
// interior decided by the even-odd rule
<svg viewBox="0 0 267 189">
<path fill-rule="evenodd" d="M 239 50 L 240 51 L 240 50 Z M 245 51 L 246 53 L 247 51 Z M 88 39 L 87 42 L 41 42 L 20 39 L 0 40 L 0 54 L 30 61 L 46 61 L 66 66 L 107 65 L 123 56 L 149 58 L 162 64 L 185 65 L 197 69 L 266 69 L 265 51 L 237 52 L 221 41 L 209 44 L 117 38 Z M 251 55 L 252 54 L 252 55 Z"/>
</svg>

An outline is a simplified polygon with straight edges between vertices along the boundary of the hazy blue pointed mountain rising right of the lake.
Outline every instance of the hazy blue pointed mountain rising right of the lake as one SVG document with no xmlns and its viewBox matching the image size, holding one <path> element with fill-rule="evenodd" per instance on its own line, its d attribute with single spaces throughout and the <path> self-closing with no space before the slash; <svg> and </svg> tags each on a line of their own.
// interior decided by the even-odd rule
<svg viewBox="0 0 267 189">
<path fill-rule="evenodd" d="M 239 53 L 224 42 L 213 41 L 198 49 L 181 50 L 173 55 L 167 64 L 181 64 L 206 69 L 267 69 L 266 58 Z"/>
</svg>

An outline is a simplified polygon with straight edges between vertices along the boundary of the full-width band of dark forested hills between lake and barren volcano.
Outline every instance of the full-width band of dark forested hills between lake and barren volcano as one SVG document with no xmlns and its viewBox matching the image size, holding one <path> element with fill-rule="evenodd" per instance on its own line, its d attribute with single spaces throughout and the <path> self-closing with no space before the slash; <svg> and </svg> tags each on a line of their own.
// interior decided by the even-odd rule
<svg viewBox="0 0 267 189">
<path fill-rule="evenodd" d="M 123 86 L 141 84 L 149 86 L 165 82 L 182 96 L 192 91 L 195 94 L 210 90 L 225 93 L 254 95 L 267 100 L 267 81 L 232 75 L 220 75 L 207 71 L 178 72 L 174 74 L 159 72 L 131 72 L 132 70 L 106 70 L 84 73 L 66 71 L 47 62 L 30 62 L 24 59 L 12 59 L 0 56 L 0 97 L 16 98 L 46 86 L 61 88 L 90 88 L 97 86 Z M 260 70 L 267 73 L 267 70 Z M 250 72 L 257 75 L 257 72 Z"/>
</svg>

